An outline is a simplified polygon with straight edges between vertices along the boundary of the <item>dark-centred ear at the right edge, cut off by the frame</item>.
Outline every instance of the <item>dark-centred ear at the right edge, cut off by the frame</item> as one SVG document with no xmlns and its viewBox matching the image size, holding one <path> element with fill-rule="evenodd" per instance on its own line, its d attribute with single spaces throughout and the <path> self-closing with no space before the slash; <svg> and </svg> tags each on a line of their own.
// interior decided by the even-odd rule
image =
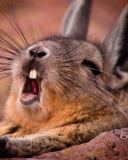
<svg viewBox="0 0 128 160">
<path fill-rule="evenodd" d="M 119 89 L 128 83 L 128 4 L 101 43 L 104 71 L 113 74 L 110 85 Z M 105 77 L 106 78 L 106 77 Z M 106 82 L 107 83 L 107 82 Z"/>
</svg>

